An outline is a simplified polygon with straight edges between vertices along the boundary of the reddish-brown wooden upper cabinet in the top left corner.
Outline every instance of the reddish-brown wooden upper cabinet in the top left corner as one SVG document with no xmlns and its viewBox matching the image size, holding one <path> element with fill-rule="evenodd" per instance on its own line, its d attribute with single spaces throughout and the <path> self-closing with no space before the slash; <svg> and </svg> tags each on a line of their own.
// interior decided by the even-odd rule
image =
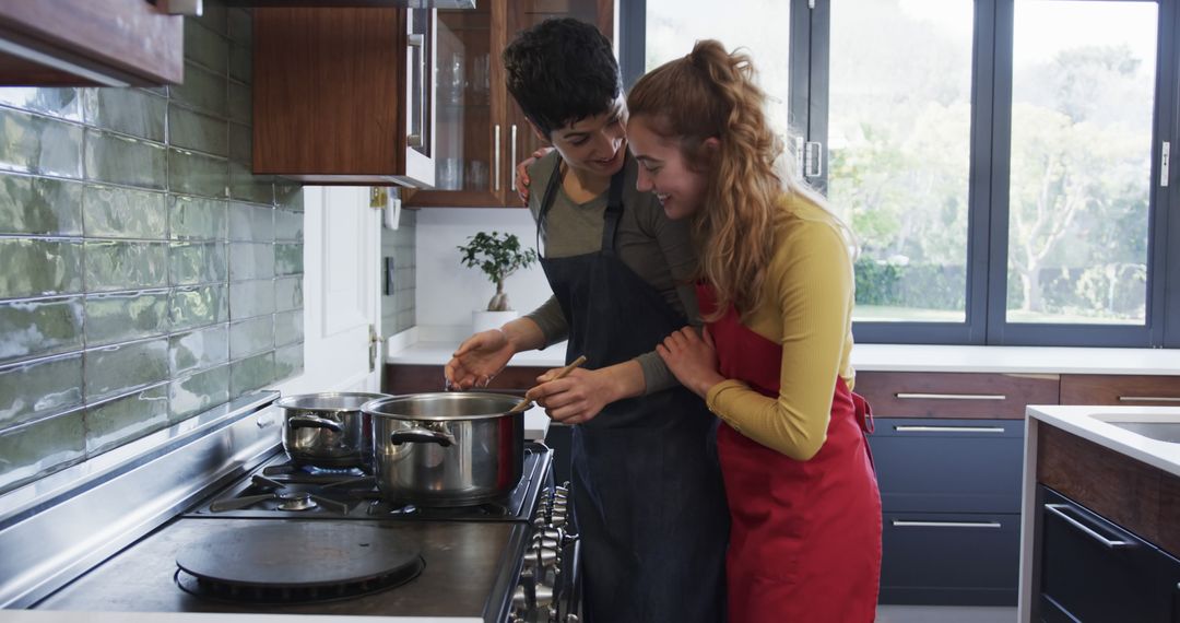
<svg viewBox="0 0 1180 623">
<path fill-rule="evenodd" d="M 146 0 L 0 2 L 0 85 L 146 86 L 184 78 L 184 18 Z"/>
</svg>

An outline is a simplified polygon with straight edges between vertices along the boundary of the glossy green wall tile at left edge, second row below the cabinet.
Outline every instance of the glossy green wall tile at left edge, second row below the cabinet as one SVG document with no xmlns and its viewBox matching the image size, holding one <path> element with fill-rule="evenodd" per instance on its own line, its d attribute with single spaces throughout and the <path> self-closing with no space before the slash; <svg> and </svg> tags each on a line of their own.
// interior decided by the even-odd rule
<svg viewBox="0 0 1180 623">
<path fill-rule="evenodd" d="M 81 177 L 83 129 L 0 109 L 0 170 Z"/>
</svg>

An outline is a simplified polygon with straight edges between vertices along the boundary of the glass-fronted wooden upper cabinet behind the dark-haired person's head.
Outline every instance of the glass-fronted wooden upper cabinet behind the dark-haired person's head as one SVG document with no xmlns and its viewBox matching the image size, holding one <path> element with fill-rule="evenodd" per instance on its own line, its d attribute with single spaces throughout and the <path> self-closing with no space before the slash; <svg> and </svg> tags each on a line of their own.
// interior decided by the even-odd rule
<svg viewBox="0 0 1180 623">
<path fill-rule="evenodd" d="M 615 38 L 611 0 L 490 0 L 438 12 L 435 185 L 406 192 L 407 206 L 523 206 L 516 164 L 545 143 L 507 92 L 500 53 L 520 31 L 560 17 Z"/>
</svg>

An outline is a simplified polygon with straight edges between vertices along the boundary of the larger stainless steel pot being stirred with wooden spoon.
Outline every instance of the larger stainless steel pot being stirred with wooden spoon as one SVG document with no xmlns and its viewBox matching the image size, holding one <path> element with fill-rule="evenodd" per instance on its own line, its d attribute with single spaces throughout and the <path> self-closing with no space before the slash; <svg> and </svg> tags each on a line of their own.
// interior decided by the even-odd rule
<svg viewBox="0 0 1180 623">
<path fill-rule="evenodd" d="M 520 480 L 524 417 L 519 396 L 441 392 L 374 400 L 378 490 L 392 500 L 465 506 L 506 496 Z"/>
</svg>

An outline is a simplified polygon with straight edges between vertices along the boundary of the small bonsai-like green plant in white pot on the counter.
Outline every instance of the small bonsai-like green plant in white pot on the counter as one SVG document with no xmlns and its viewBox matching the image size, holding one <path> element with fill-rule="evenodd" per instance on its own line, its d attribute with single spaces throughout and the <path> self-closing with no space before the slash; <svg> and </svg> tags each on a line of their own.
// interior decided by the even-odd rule
<svg viewBox="0 0 1180 623">
<path fill-rule="evenodd" d="M 478 268 L 496 284 L 496 294 L 487 302 L 487 309 L 472 313 L 472 328 L 476 333 L 497 328 L 517 317 L 509 304 L 509 295 L 504 291 L 504 280 L 522 268 L 529 268 L 537 261 L 537 251 L 523 249 L 520 240 L 513 234 L 491 234 L 480 231 L 467 237 L 467 244 L 458 247 L 463 253 L 460 262 L 467 268 Z"/>
</svg>

